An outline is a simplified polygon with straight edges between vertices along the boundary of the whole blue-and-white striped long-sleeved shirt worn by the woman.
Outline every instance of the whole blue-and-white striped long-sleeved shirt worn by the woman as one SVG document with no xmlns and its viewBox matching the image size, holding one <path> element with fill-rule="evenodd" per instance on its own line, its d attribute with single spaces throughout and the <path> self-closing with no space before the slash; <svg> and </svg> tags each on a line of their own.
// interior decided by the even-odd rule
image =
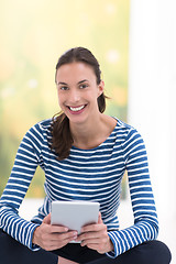
<svg viewBox="0 0 176 264">
<path fill-rule="evenodd" d="M 88 200 L 100 202 L 100 212 L 116 257 L 144 241 L 156 239 L 157 215 L 148 175 L 144 142 L 135 129 L 118 120 L 109 138 L 91 150 L 75 146 L 63 161 L 51 150 L 51 123 L 44 120 L 32 127 L 23 138 L 14 166 L 0 199 L 0 228 L 31 250 L 35 228 L 51 211 L 53 200 Z M 45 173 L 45 199 L 32 221 L 18 215 L 36 167 Z M 128 170 L 134 224 L 120 230 L 117 210 L 121 182 Z"/>
</svg>

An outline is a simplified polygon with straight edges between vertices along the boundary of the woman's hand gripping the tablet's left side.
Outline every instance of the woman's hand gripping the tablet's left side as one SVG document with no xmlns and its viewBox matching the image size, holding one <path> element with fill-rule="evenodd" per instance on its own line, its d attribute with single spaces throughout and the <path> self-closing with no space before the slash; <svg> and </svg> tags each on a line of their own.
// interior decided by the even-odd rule
<svg viewBox="0 0 176 264">
<path fill-rule="evenodd" d="M 50 213 L 44 218 L 42 224 L 35 229 L 32 243 L 46 251 L 53 251 L 76 239 L 76 231 L 68 231 L 68 228 L 63 226 L 52 226 Z"/>
</svg>

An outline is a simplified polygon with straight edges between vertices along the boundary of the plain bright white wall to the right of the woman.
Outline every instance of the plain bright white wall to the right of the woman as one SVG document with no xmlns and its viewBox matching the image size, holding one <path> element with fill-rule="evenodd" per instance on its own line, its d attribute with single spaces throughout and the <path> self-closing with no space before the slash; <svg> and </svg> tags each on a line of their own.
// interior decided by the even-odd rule
<svg viewBox="0 0 176 264">
<path fill-rule="evenodd" d="M 162 227 L 173 222 L 175 232 L 175 0 L 131 0 L 128 112 L 128 122 L 146 144 L 157 211 L 165 219 Z"/>
</svg>

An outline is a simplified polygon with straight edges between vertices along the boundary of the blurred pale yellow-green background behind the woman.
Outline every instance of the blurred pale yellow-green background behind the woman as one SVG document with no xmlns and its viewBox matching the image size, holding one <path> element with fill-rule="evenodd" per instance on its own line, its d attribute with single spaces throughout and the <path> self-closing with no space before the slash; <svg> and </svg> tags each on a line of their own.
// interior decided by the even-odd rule
<svg viewBox="0 0 176 264">
<path fill-rule="evenodd" d="M 127 120 L 130 0 L 0 0 L 0 195 L 26 130 L 58 112 L 57 58 L 89 48 L 101 65 L 107 114 Z M 43 197 L 37 168 L 28 197 Z"/>
</svg>

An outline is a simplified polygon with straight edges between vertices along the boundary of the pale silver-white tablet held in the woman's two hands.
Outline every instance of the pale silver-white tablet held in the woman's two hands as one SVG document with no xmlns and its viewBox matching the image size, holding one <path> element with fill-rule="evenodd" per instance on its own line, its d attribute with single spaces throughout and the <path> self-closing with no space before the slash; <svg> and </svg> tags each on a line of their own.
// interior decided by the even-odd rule
<svg viewBox="0 0 176 264">
<path fill-rule="evenodd" d="M 99 202 L 94 201 L 53 201 L 52 224 L 62 224 L 80 233 L 81 227 L 97 223 Z"/>
</svg>

